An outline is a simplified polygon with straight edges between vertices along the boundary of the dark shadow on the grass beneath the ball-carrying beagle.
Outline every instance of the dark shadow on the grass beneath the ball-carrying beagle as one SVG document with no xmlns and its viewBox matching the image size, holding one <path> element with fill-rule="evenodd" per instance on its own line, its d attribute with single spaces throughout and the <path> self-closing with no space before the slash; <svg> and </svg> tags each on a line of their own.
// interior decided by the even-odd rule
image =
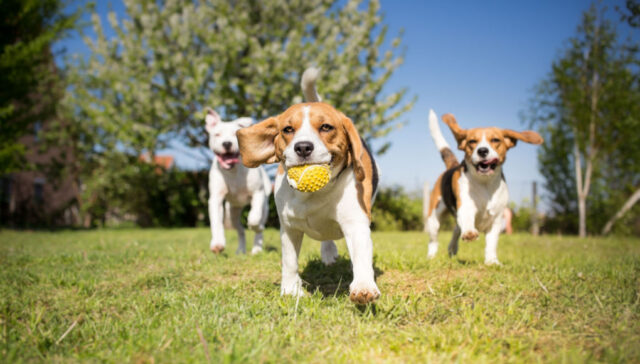
<svg viewBox="0 0 640 364">
<path fill-rule="evenodd" d="M 375 278 L 384 274 L 373 262 Z M 323 297 L 348 296 L 349 284 L 353 280 L 351 260 L 340 256 L 335 263 L 326 266 L 320 258 L 310 260 L 304 267 L 300 277 L 305 282 L 305 289 L 314 293 L 319 291 Z"/>
</svg>

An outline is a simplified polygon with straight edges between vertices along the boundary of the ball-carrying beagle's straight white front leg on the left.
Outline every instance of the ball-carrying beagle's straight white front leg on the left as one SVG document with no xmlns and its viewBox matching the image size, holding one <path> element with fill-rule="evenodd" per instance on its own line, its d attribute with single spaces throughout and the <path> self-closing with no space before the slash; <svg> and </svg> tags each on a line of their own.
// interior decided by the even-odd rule
<svg viewBox="0 0 640 364">
<path fill-rule="evenodd" d="M 281 224 L 283 225 L 283 224 Z M 302 279 L 298 275 L 298 254 L 302 245 L 301 231 L 280 228 L 282 240 L 282 282 L 280 284 L 281 295 L 302 296 Z"/>
</svg>

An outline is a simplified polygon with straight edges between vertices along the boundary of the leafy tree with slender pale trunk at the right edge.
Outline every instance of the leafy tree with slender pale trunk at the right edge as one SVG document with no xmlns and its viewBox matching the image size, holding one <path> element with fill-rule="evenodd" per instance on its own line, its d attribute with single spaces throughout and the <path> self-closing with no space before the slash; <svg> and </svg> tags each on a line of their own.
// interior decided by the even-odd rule
<svg viewBox="0 0 640 364">
<path fill-rule="evenodd" d="M 627 144 L 640 142 L 629 132 L 640 119 L 637 61 L 636 47 L 619 42 L 604 9 L 592 6 L 532 101 L 531 121 L 547 140 L 539 150 L 545 187 L 556 208 L 577 210 L 581 237 L 587 234 L 588 200 L 607 207 L 616 200 L 616 185 L 623 190 L 639 186 L 637 168 L 628 159 L 637 161 L 640 155 L 619 155 Z M 575 203 L 568 200 L 570 188 Z M 597 211 L 600 220 L 602 212 Z"/>
</svg>

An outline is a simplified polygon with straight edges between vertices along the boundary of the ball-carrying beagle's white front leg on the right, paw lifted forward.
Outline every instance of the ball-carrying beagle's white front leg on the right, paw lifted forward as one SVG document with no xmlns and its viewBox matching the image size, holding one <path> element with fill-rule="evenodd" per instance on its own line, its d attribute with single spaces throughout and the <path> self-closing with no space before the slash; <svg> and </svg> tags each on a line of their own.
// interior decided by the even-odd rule
<svg viewBox="0 0 640 364">
<path fill-rule="evenodd" d="M 368 221 L 345 222 L 340 225 L 349 248 L 353 265 L 353 281 L 349 285 L 349 298 L 361 305 L 380 297 L 373 271 L 373 242 Z"/>
</svg>

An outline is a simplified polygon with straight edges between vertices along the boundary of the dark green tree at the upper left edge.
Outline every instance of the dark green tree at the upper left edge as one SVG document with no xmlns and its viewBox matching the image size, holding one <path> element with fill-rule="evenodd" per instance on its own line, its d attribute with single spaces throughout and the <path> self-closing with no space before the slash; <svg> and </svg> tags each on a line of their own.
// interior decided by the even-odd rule
<svg viewBox="0 0 640 364">
<path fill-rule="evenodd" d="M 25 168 L 19 138 L 55 115 L 62 92 L 51 45 L 80 14 L 64 7 L 61 0 L 0 0 L 0 175 Z"/>
</svg>

